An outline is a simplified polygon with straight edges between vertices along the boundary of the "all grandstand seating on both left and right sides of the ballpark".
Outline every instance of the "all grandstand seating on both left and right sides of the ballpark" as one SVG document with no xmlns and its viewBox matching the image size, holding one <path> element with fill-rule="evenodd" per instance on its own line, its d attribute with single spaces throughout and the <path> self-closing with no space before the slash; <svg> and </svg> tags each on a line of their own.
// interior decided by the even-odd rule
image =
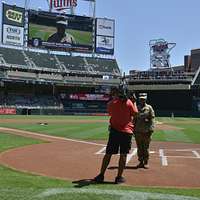
<svg viewBox="0 0 200 200">
<path fill-rule="evenodd" d="M 71 94 L 74 89 L 92 93 L 98 87 L 101 93 L 101 87 L 118 85 L 121 74 L 116 59 L 64 54 L 1 46 L 0 107 L 16 108 L 19 114 L 26 114 L 29 109 L 31 114 L 54 111 L 58 111 L 56 114 L 105 114 L 106 101 L 63 99 L 60 94 Z M 185 66 L 132 70 L 126 76 L 128 89 L 135 91 L 136 95 L 140 91 L 147 92 L 156 115 L 170 116 L 173 112 L 175 116 L 182 116 L 197 112 L 200 101 L 199 55 L 200 50 L 191 53 L 192 70 L 186 70 Z"/>
</svg>

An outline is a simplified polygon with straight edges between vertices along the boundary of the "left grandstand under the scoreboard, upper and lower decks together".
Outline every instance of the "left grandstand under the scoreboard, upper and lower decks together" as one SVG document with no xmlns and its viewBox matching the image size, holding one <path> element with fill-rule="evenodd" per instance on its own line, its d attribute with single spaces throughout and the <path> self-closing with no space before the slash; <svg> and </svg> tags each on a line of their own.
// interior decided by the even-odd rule
<svg viewBox="0 0 200 200">
<path fill-rule="evenodd" d="M 114 59 L 1 46 L 0 60 L 0 106 L 18 114 L 106 113 L 108 99 L 68 99 L 61 93 L 102 94 L 121 76 Z"/>
</svg>

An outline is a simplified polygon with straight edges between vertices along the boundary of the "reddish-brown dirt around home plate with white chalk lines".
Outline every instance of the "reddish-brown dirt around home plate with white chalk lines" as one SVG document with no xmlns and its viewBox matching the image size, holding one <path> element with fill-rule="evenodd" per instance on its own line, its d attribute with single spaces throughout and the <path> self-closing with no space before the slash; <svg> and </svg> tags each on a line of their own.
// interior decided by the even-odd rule
<svg viewBox="0 0 200 200">
<path fill-rule="evenodd" d="M 28 131 L 0 128 L 0 131 L 37 138 L 48 143 L 21 147 L 0 154 L 0 163 L 19 171 L 71 181 L 93 178 L 100 168 L 104 142 L 86 142 Z M 135 169 L 135 144 L 128 155 L 124 176 L 128 185 L 200 188 L 200 145 L 152 142 L 149 169 Z M 106 181 L 113 182 L 118 155 L 113 156 Z"/>
</svg>

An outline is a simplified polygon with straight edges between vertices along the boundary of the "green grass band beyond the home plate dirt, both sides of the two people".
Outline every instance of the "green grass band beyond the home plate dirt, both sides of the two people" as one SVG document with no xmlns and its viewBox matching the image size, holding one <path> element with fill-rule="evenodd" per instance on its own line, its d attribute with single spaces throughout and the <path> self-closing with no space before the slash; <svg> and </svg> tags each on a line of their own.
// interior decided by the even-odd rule
<svg viewBox="0 0 200 200">
<path fill-rule="evenodd" d="M 3 123 L 5 117 L 1 116 L 0 126 L 2 127 L 83 140 L 106 140 L 108 138 L 108 117 L 8 116 L 7 119 L 20 121 L 17 123 Z M 35 121 L 33 122 L 31 120 Z M 48 120 L 50 121 L 48 122 Z M 54 122 L 53 120 L 56 121 Z M 177 129 L 156 130 L 153 134 L 153 140 L 200 144 L 200 120 L 198 118 L 156 118 L 156 121 Z M 48 122 L 48 124 L 40 125 L 39 122 Z"/>
</svg>

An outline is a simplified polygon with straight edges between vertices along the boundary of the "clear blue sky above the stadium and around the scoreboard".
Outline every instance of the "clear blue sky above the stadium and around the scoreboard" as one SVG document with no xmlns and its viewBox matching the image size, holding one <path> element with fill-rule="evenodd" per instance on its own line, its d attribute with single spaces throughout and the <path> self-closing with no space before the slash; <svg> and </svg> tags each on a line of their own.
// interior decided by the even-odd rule
<svg viewBox="0 0 200 200">
<path fill-rule="evenodd" d="M 0 0 L 2 1 L 2 0 Z M 120 69 L 147 70 L 151 39 L 175 42 L 171 64 L 184 63 L 184 55 L 200 48 L 199 0 L 96 0 L 96 17 L 115 19 L 115 57 Z M 25 5 L 25 0 L 4 0 Z M 29 8 L 48 9 L 47 0 L 27 0 Z M 78 0 L 76 13 L 91 14 L 90 4 Z"/>
</svg>

